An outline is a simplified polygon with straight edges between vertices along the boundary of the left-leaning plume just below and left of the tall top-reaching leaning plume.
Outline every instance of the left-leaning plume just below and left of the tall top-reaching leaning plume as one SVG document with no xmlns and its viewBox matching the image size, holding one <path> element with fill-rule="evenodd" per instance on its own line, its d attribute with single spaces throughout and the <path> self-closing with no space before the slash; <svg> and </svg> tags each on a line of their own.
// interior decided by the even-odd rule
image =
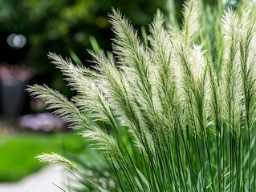
<svg viewBox="0 0 256 192">
<path fill-rule="evenodd" d="M 127 83 L 124 82 L 124 74 L 116 69 L 111 56 L 104 53 L 94 54 L 90 52 L 95 62 L 95 69 L 103 74 L 103 93 L 110 103 L 116 116 L 119 116 L 124 126 L 132 125 L 134 129 L 140 129 L 139 119 L 134 104 L 130 101 Z"/>
</svg>

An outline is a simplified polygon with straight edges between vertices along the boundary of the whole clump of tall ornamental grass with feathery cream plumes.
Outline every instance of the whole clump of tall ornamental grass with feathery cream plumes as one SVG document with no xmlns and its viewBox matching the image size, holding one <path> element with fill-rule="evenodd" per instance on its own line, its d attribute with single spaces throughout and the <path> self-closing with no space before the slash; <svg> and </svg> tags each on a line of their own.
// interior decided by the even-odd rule
<svg viewBox="0 0 256 192">
<path fill-rule="evenodd" d="M 190 0 L 180 27 L 169 1 L 148 46 L 112 10 L 113 52 L 90 50 L 93 70 L 50 53 L 77 94 L 27 90 L 91 140 L 108 167 L 85 175 L 58 154 L 39 160 L 65 166 L 85 191 L 256 191 L 255 6 Z"/>
</svg>

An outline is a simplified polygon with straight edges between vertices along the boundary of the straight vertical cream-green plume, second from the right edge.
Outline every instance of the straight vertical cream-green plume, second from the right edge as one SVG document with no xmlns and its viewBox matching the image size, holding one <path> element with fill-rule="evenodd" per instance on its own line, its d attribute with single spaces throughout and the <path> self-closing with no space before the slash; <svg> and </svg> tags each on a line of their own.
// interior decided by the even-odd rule
<svg viewBox="0 0 256 192">
<path fill-rule="evenodd" d="M 226 40 L 226 52 L 223 66 L 223 90 L 225 118 L 231 134 L 238 141 L 240 137 L 242 117 L 242 83 L 241 68 L 238 64 L 238 39 L 241 23 L 238 15 L 230 8 L 223 17 L 224 34 Z"/>
</svg>

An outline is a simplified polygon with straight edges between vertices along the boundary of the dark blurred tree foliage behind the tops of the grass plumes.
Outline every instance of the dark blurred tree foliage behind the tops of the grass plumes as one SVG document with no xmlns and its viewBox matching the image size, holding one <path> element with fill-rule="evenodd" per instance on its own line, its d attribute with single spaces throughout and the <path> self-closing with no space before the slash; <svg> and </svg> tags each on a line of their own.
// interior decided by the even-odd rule
<svg viewBox="0 0 256 192">
<path fill-rule="evenodd" d="M 175 3 L 178 20 L 182 2 Z M 217 0 L 205 2 L 214 5 Z M 0 63 L 31 66 L 35 71 L 31 82 L 46 83 L 71 95 L 59 70 L 48 60 L 48 52 L 67 58 L 77 56 L 84 65 L 89 65 L 86 50 L 91 49 L 90 37 L 102 49 L 112 49 L 113 34 L 108 23 L 112 7 L 129 18 L 140 34 L 140 26 L 148 26 L 156 9 L 165 11 L 165 6 L 166 0 L 1 0 Z M 6 38 L 10 34 L 24 35 L 26 46 L 19 49 L 8 46 Z"/>
</svg>

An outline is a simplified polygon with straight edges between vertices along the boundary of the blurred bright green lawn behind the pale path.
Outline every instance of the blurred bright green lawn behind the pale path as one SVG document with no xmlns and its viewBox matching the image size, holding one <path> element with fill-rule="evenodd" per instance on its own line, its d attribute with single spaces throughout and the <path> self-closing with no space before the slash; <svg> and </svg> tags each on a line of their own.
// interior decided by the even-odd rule
<svg viewBox="0 0 256 192">
<path fill-rule="evenodd" d="M 0 182 L 18 181 L 45 166 L 35 159 L 37 154 L 65 151 L 74 154 L 84 147 L 83 138 L 74 133 L 0 135 Z"/>
</svg>

